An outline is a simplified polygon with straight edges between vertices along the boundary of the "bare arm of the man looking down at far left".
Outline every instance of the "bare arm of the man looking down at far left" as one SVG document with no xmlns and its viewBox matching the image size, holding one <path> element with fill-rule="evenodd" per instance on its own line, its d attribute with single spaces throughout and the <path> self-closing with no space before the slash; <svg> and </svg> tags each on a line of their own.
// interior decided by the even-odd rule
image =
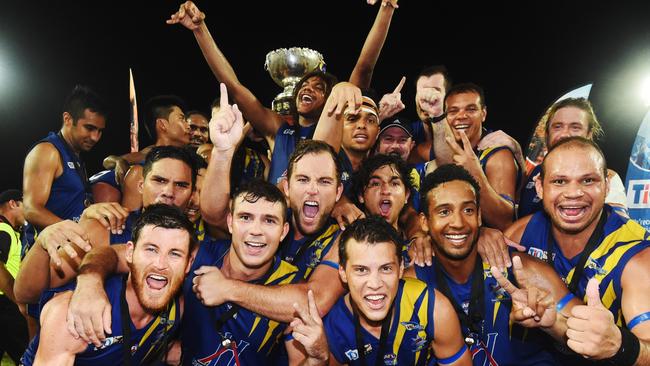
<svg viewBox="0 0 650 366">
<path fill-rule="evenodd" d="M 58 150 L 50 143 L 36 145 L 25 158 L 23 170 L 23 202 L 25 219 L 39 228 L 57 223 L 62 218 L 45 208 L 54 179 L 63 173 Z"/>
</svg>

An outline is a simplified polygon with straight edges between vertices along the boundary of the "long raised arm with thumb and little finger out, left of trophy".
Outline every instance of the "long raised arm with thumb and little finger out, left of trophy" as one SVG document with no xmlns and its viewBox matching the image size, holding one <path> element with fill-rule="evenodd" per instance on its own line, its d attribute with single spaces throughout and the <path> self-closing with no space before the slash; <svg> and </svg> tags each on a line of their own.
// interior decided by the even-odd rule
<svg viewBox="0 0 650 366">
<path fill-rule="evenodd" d="M 180 6 L 178 12 L 172 14 L 167 20 L 167 24 L 177 23 L 194 33 L 194 38 L 196 38 L 212 73 L 219 82 L 226 84 L 230 95 L 239 105 L 246 120 L 272 141 L 282 125 L 282 118 L 269 108 L 264 107 L 257 97 L 239 82 L 235 70 L 212 38 L 205 24 L 205 14 L 193 2 L 187 1 Z"/>
</svg>

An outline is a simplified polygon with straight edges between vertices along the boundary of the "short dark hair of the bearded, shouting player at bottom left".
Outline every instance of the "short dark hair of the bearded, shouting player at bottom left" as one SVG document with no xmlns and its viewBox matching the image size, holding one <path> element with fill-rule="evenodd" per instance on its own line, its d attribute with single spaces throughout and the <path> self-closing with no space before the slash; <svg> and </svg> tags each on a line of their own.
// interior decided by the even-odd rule
<svg viewBox="0 0 650 366">
<path fill-rule="evenodd" d="M 140 238 L 140 232 L 146 225 L 161 227 L 164 229 L 182 229 L 187 231 L 190 236 L 188 244 L 189 253 L 191 253 L 198 243 L 194 225 L 187 216 L 177 207 L 163 203 L 154 203 L 142 210 L 140 216 L 135 220 L 133 227 L 132 240 L 133 245 L 137 245 Z"/>
</svg>

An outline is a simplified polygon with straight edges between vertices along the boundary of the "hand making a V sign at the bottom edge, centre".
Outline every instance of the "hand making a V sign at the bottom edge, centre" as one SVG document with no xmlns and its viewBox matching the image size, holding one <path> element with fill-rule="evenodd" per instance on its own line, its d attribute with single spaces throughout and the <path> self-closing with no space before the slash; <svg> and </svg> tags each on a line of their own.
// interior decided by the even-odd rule
<svg viewBox="0 0 650 366">
<path fill-rule="evenodd" d="M 290 324 L 293 328 L 291 335 L 302 344 L 309 358 L 326 365 L 329 359 L 327 337 L 312 290 L 307 292 L 307 307 L 308 309 L 303 309 L 297 303 L 293 304 L 298 316 Z M 311 362 L 310 364 L 315 363 Z"/>
</svg>

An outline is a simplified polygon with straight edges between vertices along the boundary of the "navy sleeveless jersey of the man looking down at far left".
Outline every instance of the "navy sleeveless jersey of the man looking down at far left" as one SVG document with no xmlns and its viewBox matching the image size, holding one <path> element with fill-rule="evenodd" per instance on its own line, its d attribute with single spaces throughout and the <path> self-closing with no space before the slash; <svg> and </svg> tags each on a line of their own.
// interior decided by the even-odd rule
<svg viewBox="0 0 650 366">
<path fill-rule="evenodd" d="M 81 213 L 86 208 L 85 201 L 92 202 L 92 195 L 86 191 L 85 182 L 77 172 L 76 162 L 81 163 L 81 161 L 69 152 L 65 141 L 56 133 L 50 132 L 34 146 L 44 142 L 51 143 L 57 149 L 63 167 L 63 173 L 52 182 L 45 208 L 64 220 L 79 221 Z M 24 254 L 34 244 L 36 232 L 41 229 L 27 224 L 23 240 Z"/>
</svg>

